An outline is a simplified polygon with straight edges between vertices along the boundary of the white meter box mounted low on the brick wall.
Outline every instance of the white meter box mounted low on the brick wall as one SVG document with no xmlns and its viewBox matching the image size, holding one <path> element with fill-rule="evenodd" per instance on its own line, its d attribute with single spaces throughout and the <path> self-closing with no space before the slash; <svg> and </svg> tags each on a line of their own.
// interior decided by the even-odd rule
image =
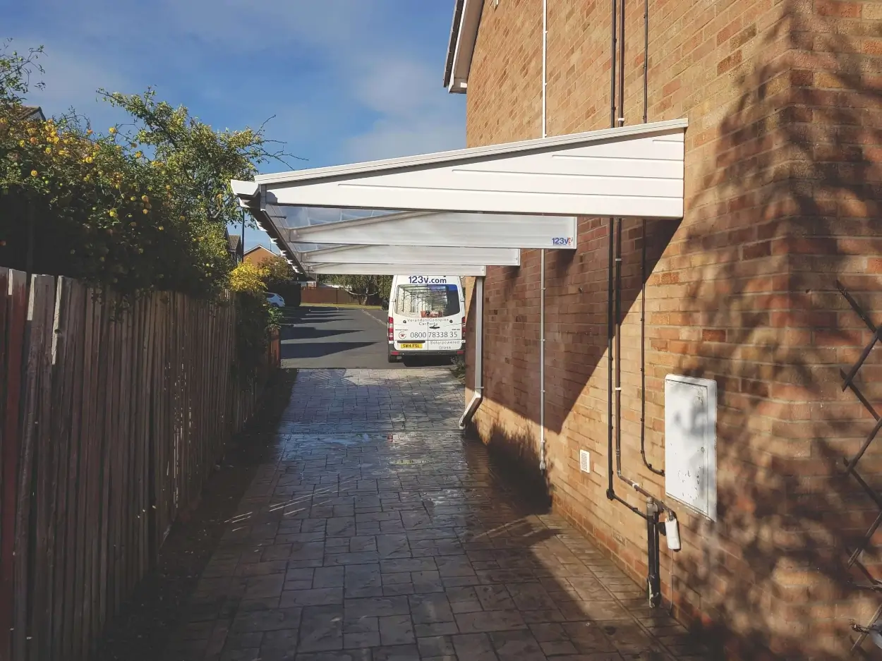
<svg viewBox="0 0 882 661">
<path fill-rule="evenodd" d="M 664 384 L 665 493 L 716 521 L 717 384 L 667 375 Z"/>
</svg>

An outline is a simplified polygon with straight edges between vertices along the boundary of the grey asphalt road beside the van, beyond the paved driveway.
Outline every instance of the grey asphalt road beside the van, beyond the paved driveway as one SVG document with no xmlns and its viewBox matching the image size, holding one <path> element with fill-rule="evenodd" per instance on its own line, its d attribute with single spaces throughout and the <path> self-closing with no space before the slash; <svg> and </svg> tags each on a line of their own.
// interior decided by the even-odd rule
<svg viewBox="0 0 882 661">
<path fill-rule="evenodd" d="M 281 331 L 283 368 L 400 369 L 386 353 L 385 310 L 302 306 L 286 310 Z M 422 360 L 407 367 L 438 367 Z"/>
</svg>

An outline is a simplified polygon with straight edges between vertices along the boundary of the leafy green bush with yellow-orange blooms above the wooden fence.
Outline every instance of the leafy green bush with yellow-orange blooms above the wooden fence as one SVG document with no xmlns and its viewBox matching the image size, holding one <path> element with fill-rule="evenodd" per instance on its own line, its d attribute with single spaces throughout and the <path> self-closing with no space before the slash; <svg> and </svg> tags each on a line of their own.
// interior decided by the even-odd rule
<svg viewBox="0 0 882 661">
<path fill-rule="evenodd" d="M 225 233 L 241 213 L 229 181 L 283 154 L 262 130 L 215 131 L 152 89 L 101 91 L 131 128 L 94 131 L 72 111 L 36 121 L 23 104 L 40 54 L 0 48 L 0 264 L 24 268 L 33 222 L 34 271 L 131 293 L 226 288 Z"/>
</svg>

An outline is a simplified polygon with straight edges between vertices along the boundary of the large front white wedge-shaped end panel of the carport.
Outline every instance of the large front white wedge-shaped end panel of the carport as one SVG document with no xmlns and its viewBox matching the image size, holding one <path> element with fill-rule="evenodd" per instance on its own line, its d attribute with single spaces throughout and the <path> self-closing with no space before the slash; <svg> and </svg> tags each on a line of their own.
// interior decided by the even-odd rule
<svg viewBox="0 0 882 661">
<path fill-rule="evenodd" d="M 258 175 L 262 205 L 683 217 L 686 120 Z"/>
</svg>

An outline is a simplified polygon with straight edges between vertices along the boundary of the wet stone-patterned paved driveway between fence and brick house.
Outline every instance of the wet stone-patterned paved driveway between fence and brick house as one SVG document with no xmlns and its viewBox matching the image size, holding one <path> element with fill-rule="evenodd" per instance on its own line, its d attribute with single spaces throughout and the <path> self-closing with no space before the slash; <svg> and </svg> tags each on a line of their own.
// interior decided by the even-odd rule
<svg viewBox="0 0 882 661">
<path fill-rule="evenodd" d="M 698 659 L 456 428 L 445 368 L 304 370 L 169 661 Z"/>
</svg>

